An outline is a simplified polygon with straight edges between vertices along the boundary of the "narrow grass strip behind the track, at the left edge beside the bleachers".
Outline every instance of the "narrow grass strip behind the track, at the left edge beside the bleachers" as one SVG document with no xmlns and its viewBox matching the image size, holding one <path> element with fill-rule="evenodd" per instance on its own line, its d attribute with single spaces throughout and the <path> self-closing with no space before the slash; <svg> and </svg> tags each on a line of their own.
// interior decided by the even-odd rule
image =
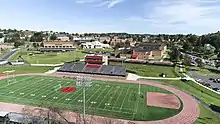
<svg viewBox="0 0 220 124">
<path fill-rule="evenodd" d="M 0 66 L 0 72 L 15 70 L 16 74 L 21 73 L 44 73 L 49 70 L 54 69 L 54 67 L 35 67 L 35 66 Z M 3 74 L 0 74 L 0 76 Z"/>
</svg>

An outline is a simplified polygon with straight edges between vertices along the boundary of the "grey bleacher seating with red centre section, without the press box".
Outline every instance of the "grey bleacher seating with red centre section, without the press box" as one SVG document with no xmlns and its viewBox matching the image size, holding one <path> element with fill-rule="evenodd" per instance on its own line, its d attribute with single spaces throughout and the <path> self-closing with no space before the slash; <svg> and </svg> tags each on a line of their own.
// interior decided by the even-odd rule
<svg viewBox="0 0 220 124">
<path fill-rule="evenodd" d="M 98 65 L 98 64 L 64 63 L 64 65 L 57 71 L 58 72 L 71 72 L 71 73 L 110 75 L 110 76 L 123 76 L 123 77 L 127 75 L 126 69 L 122 66 Z"/>
</svg>

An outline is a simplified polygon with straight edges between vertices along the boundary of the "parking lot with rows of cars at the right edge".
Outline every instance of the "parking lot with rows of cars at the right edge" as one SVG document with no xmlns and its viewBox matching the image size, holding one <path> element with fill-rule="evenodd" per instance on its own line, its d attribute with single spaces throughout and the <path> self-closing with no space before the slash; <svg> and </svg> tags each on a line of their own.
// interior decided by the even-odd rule
<svg viewBox="0 0 220 124">
<path fill-rule="evenodd" d="M 200 82 L 209 83 L 212 88 L 219 88 L 220 89 L 220 83 L 215 83 L 213 80 L 210 80 L 210 78 L 220 78 L 220 76 L 214 76 L 214 75 L 200 75 L 196 71 L 190 71 L 190 76 L 194 79 L 201 79 Z"/>
</svg>

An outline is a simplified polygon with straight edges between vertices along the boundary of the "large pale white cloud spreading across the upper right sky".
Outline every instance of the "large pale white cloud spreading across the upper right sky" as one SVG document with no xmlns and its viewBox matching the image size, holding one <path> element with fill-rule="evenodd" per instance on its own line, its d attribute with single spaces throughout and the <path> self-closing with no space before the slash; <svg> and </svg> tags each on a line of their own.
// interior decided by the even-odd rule
<svg viewBox="0 0 220 124">
<path fill-rule="evenodd" d="M 154 27 L 217 31 L 220 25 L 220 0 L 158 0 L 146 3 L 144 13 L 126 20 Z M 144 15 L 144 16 L 143 16 Z"/>
</svg>

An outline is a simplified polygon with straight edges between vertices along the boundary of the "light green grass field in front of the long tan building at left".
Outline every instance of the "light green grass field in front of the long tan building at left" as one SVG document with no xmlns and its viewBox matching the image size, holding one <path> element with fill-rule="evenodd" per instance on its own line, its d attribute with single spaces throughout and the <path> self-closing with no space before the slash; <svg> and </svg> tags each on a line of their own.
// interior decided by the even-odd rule
<svg viewBox="0 0 220 124">
<path fill-rule="evenodd" d="M 33 53 L 33 55 L 28 55 L 29 53 Z M 31 64 L 59 64 L 67 61 L 72 61 L 75 58 L 84 58 L 85 53 L 80 51 L 76 52 L 48 52 L 48 53 L 40 53 L 40 52 L 31 52 L 31 51 L 19 51 L 17 52 L 11 60 L 17 60 L 18 56 L 22 56 L 26 61 Z"/>
</svg>

